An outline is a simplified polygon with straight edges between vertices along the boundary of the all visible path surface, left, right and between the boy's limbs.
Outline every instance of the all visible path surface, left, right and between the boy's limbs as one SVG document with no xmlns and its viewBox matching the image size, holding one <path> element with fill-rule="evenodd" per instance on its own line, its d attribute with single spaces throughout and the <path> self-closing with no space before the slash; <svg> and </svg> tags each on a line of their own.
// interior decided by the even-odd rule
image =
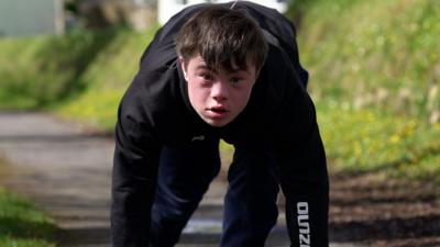
<svg viewBox="0 0 440 247">
<path fill-rule="evenodd" d="M 0 160 L 0 183 L 31 198 L 55 218 L 62 229 L 62 247 L 110 245 L 112 149 L 110 137 L 94 134 L 84 126 L 41 113 L 0 112 L 0 158 L 3 160 Z M 440 197 L 432 188 L 414 186 L 420 194 L 413 197 L 414 203 L 407 205 L 407 198 L 403 200 L 404 193 L 398 192 L 402 184 L 376 187 L 375 180 L 365 176 L 332 179 L 332 247 L 360 247 L 369 243 L 371 246 L 440 246 Z M 179 247 L 216 246 L 224 189 L 220 176 L 185 228 Z M 393 211 L 396 205 L 406 209 L 408 221 Z M 282 218 L 283 215 L 268 239 L 268 247 L 287 246 Z M 393 236 L 397 239 L 392 239 Z"/>
</svg>

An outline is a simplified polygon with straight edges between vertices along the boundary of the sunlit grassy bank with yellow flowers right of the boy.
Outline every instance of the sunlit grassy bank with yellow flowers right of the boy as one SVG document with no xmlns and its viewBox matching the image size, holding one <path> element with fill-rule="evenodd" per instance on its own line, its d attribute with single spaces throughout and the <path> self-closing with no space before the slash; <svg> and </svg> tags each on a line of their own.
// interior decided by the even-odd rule
<svg viewBox="0 0 440 247">
<path fill-rule="evenodd" d="M 296 1 L 289 14 L 330 170 L 440 186 L 437 1 Z"/>
</svg>

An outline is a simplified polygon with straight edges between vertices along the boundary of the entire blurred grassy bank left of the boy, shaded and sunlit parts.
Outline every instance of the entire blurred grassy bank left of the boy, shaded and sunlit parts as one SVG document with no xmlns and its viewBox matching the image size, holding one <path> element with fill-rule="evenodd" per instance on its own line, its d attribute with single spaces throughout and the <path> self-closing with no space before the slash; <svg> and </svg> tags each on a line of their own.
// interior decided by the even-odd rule
<svg viewBox="0 0 440 247">
<path fill-rule="evenodd" d="M 0 38 L 0 109 L 44 109 L 111 130 L 155 30 Z"/>
</svg>

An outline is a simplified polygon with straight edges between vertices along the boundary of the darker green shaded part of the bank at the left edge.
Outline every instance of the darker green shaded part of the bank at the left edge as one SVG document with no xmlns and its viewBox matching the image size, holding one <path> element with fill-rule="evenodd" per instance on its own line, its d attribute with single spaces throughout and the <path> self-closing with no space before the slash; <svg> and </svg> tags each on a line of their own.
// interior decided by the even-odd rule
<svg viewBox="0 0 440 247">
<path fill-rule="evenodd" d="M 0 106 L 41 109 L 80 93 L 88 65 L 117 30 L 0 38 Z"/>
</svg>

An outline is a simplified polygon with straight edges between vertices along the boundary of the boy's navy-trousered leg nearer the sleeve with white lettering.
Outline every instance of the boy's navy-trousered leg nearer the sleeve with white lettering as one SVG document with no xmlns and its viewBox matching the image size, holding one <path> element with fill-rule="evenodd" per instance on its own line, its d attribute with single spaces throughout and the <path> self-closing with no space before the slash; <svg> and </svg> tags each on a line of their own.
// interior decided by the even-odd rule
<svg viewBox="0 0 440 247">
<path fill-rule="evenodd" d="M 237 146 L 228 180 L 220 246 L 263 247 L 278 216 L 278 176 L 270 153 Z"/>
</svg>

